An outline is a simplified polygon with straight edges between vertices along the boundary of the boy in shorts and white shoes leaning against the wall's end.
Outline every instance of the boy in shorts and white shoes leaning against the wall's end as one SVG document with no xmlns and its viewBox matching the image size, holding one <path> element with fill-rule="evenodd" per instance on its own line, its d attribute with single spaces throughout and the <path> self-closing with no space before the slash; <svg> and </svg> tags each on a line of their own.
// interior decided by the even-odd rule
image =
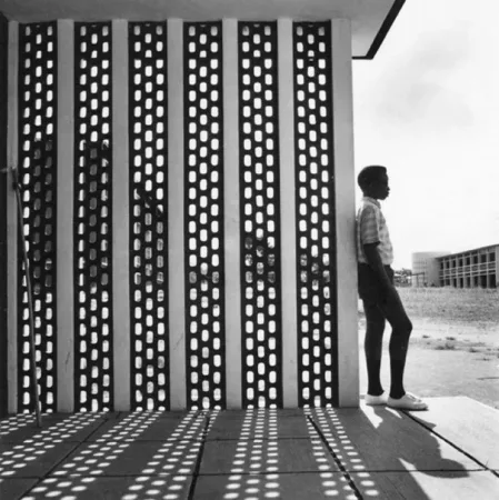
<svg viewBox="0 0 499 500">
<path fill-rule="evenodd" d="M 407 317 L 400 297 L 393 286 L 393 251 L 381 206 L 387 199 L 387 169 L 380 166 L 366 167 L 358 177 L 363 198 L 357 213 L 357 258 L 359 270 L 359 296 L 366 312 L 366 363 L 368 391 L 366 404 L 387 404 L 403 410 L 426 410 L 421 399 L 403 388 L 409 337 L 412 323 Z M 383 391 L 380 381 L 382 339 L 386 321 L 391 324 L 390 393 Z"/>
</svg>

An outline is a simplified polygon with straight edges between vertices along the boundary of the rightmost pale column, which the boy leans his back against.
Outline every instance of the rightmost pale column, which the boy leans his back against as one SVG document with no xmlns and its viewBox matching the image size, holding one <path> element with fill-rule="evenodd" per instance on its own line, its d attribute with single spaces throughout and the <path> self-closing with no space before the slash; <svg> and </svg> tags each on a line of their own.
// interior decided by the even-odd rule
<svg viewBox="0 0 499 500">
<path fill-rule="evenodd" d="M 340 407 L 359 406 L 351 23 L 331 21 Z"/>
</svg>

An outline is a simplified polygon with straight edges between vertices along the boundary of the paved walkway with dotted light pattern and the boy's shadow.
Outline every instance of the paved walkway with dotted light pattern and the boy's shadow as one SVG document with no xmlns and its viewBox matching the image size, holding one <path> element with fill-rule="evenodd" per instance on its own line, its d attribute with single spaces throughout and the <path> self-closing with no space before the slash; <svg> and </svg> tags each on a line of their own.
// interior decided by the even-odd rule
<svg viewBox="0 0 499 500">
<path fill-rule="evenodd" d="M 0 499 L 498 499 L 499 412 L 53 414 L 0 422 Z"/>
</svg>

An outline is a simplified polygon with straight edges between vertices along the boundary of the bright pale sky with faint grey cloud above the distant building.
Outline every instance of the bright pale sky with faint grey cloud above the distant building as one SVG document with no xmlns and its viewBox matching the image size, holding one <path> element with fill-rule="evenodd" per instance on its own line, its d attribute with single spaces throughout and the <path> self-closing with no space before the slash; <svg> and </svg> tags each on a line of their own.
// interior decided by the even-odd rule
<svg viewBox="0 0 499 500">
<path fill-rule="evenodd" d="M 388 168 L 396 269 L 499 243 L 498 19 L 498 0 L 407 0 L 353 62 L 356 173 Z"/>
</svg>

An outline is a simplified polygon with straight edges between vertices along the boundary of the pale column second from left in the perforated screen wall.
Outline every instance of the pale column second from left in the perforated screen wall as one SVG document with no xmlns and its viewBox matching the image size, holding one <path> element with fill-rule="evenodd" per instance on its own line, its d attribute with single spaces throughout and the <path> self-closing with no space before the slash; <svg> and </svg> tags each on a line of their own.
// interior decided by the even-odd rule
<svg viewBox="0 0 499 500">
<path fill-rule="evenodd" d="M 58 21 L 57 410 L 74 410 L 74 23 Z"/>
</svg>

